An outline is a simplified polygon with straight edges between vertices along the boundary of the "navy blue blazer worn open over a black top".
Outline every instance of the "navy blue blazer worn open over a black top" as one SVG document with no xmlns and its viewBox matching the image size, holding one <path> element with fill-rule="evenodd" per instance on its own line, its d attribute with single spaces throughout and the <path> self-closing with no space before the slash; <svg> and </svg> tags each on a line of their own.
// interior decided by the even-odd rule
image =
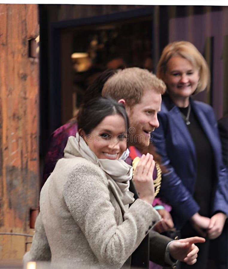
<svg viewBox="0 0 228 269">
<path fill-rule="evenodd" d="M 214 111 L 211 106 L 191 98 L 190 103 L 211 143 L 215 157 L 217 187 L 211 215 L 216 211 L 228 214 L 228 173 L 222 163 L 221 142 Z M 168 169 L 162 175 L 159 196 L 164 197 L 172 206 L 175 227 L 180 229 L 199 211 L 199 205 L 193 198 L 196 181 L 195 146 L 178 107 L 167 95 L 162 98 L 158 120 L 159 127 L 151 133 L 151 141 L 162 157 L 162 164 Z"/>
</svg>

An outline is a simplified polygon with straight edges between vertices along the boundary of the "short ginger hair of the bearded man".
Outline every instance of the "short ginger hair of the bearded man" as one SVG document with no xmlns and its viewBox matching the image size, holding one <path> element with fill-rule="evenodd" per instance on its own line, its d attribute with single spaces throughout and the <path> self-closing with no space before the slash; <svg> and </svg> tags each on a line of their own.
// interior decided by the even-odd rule
<svg viewBox="0 0 228 269">
<path fill-rule="evenodd" d="M 147 69 L 138 67 L 118 70 L 104 84 L 102 96 L 118 101 L 124 99 L 128 106 L 138 104 L 145 90 L 163 94 L 165 83 Z"/>
</svg>

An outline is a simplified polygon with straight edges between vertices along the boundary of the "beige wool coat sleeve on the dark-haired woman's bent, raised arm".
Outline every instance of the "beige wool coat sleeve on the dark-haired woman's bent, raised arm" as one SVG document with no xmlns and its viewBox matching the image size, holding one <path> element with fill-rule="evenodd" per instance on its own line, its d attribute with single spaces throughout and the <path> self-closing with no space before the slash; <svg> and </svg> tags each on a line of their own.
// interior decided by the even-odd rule
<svg viewBox="0 0 228 269">
<path fill-rule="evenodd" d="M 93 253 L 107 267 L 121 267 L 160 219 L 150 204 L 137 199 L 118 225 L 107 178 L 93 164 L 82 164 L 71 172 L 63 196 Z"/>
</svg>

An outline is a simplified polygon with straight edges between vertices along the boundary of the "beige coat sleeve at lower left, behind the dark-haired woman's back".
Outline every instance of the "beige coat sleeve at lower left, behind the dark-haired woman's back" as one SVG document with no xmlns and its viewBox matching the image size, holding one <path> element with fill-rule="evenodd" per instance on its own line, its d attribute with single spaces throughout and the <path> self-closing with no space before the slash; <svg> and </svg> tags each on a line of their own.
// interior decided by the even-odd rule
<svg viewBox="0 0 228 269">
<path fill-rule="evenodd" d="M 51 261 L 51 250 L 44 230 L 41 213 L 37 216 L 31 249 L 23 257 L 24 265 L 31 261 Z"/>
</svg>

